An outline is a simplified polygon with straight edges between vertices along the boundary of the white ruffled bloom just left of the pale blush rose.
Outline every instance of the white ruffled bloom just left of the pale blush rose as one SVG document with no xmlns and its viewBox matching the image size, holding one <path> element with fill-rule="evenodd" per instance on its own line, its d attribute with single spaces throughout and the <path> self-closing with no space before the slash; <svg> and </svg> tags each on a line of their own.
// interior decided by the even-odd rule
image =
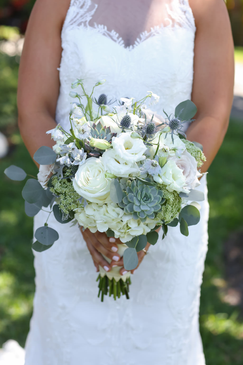
<svg viewBox="0 0 243 365">
<path fill-rule="evenodd" d="M 166 185 L 168 191 L 175 190 L 178 193 L 181 191 L 189 192 L 189 190 L 185 189 L 187 184 L 185 182 L 183 170 L 181 170 L 173 160 L 168 160 L 162 167 L 161 173 L 157 176 L 153 176 L 153 179 L 156 183 Z"/>
</svg>

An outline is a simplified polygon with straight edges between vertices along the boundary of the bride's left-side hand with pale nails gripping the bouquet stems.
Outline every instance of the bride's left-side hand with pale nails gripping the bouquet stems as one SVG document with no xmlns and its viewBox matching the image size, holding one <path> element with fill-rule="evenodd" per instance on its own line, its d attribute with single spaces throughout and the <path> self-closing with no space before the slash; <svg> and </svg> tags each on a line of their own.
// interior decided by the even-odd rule
<svg viewBox="0 0 243 365">
<path fill-rule="evenodd" d="M 85 231 L 82 231 L 81 229 L 81 232 L 93 258 L 97 272 L 99 271 L 99 265 L 106 271 L 110 271 L 112 265 L 114 265 L 109 264 L 109 262 L 103 258 L 102 254 L 110 258 L 110 260 L 112 260 L 111 262 L 121 261 L 121 257 L 117 253 L 118 246 L 115 244 L 115 238 L 108 238 L 105 233 L 99 231 L 92 233 L 88 228 L 86 228 Z"/>
</svg>

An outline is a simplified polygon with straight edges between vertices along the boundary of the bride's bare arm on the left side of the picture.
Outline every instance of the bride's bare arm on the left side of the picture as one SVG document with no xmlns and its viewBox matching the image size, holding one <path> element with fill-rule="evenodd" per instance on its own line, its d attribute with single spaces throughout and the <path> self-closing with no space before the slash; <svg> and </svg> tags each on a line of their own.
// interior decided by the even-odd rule
<svg viewBox="0 0 243 365">
<path fill-rule="evenodd" d="M 17 106 L 20 133 L 31 157 L 40 146 L 54 144 L 46 131 L 56 126 L 60 32 L 68 5 L 67 0 L 36 0 L 28 22 L 19 67 Z"/>
</svg>

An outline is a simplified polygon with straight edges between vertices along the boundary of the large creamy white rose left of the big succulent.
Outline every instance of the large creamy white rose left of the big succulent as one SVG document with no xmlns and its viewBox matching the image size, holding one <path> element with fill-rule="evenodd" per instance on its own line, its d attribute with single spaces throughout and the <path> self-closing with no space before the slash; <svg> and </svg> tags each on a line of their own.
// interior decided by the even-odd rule
<svg viewBox="0 0 243 365">
<path fill-rule="evenodd" d="M 101 158 L 90 157 L 79 165 L 72 181 L 74 190 L 92 203 L 104 204 L 110 196 L 110 181 Z"/>
</svg>

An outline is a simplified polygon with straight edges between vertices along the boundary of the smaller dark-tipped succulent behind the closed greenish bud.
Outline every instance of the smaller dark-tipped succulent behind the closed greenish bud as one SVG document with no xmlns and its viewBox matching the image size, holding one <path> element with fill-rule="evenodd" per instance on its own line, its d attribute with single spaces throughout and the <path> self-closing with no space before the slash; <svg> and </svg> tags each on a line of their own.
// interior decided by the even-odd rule
<svg viewBox="0 0 243 365">
<path fill-rule="evenodd" d="M 90 129 L 91 137 L 105 139 L 107 142 L 110 142 L 111 138 L 117 135 L 117 133 L 111 133 L 110 127 L 103 127 L 101 122 L 98 122 L 97 124 L 94 123 Z M 97 147 L 90 146 L 89 142 L 85 143 L 85 149 L 90 151 L 88 153 L 90 156 L 94 157 L 99 157 L 104 152 L 99 150 Z"/>
</svg>

